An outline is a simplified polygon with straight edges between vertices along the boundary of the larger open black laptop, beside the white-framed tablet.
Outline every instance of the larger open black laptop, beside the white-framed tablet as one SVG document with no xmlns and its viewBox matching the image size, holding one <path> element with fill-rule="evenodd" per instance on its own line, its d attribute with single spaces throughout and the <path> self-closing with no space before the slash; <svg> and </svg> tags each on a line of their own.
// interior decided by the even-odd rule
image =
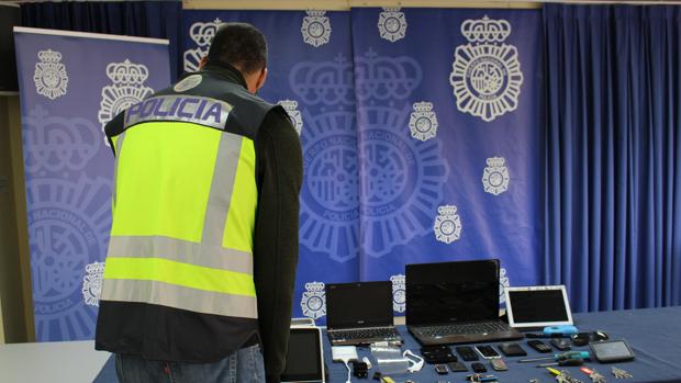
<svg viewBox="0 0 681 383">
<path fill-rule="evenodd" d="M 520 339 L 499 319 L 499 260 L 406 264 L 406 327 L 422 345 Z"/>
</svg>

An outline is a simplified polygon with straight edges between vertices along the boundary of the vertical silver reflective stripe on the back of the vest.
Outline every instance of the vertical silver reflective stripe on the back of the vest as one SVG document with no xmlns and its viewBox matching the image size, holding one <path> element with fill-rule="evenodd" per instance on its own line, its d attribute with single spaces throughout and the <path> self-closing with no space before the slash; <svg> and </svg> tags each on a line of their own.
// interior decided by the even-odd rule
<svg viewBox="0 0 681 383">
<path fill-rule="evenodd" d="M 232 133 L 223 133 L 220 137 L 211 192 L 203 218 L 202 244 L 222 246 L 242 140 L 242 136 Z"/>
</svg>

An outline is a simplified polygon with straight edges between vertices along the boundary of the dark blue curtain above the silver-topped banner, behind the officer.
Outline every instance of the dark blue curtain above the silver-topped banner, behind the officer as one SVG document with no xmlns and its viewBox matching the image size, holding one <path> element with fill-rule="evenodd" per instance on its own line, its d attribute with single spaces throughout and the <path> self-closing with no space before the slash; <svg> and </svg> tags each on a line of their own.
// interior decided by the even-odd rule
<svg viewBox="0 0 681 383">
<path fill-rule="evenodd" d="M 167 38 L 170 76 L 181 74 L 181 1 L 31 2 L 21 4 L 22 26 Z"/>
</svg>

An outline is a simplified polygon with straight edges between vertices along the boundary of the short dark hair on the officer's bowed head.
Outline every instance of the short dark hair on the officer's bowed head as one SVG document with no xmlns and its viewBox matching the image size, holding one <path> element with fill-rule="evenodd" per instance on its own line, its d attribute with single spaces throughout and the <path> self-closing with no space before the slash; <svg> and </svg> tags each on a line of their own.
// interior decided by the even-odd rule
<svg viewBox="0 0 681 383">
<path fill-rule="evenodd" d="M 265 35 L 247 23 L 224 23 L 215 32 L 208 58 L 238 67 L 245 74 L 267 65 Z"/>
</svg>

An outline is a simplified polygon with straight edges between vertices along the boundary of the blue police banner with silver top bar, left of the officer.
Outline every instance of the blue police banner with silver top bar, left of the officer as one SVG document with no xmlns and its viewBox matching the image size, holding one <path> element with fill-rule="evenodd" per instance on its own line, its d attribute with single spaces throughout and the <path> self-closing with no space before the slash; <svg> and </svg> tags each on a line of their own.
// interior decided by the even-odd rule
<svg viewBox="0 0 681 383">
<path fill-rule="evenodd" d="M 14 30 L 38 341 L 94 334 L 111 226 L 103 125 L 169 83 L 168 42 Z"/>
</svg>

